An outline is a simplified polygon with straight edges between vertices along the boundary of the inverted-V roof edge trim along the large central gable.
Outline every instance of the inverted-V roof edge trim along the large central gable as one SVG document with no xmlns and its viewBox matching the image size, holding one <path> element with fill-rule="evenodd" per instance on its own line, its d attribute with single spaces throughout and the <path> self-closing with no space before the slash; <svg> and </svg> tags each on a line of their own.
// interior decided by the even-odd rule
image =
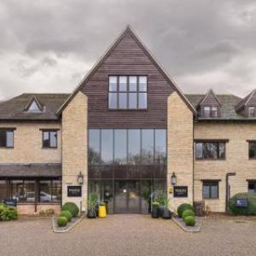
<svg viewBox="0 0 256 256">
<path fill-rule="evenodd" d="M 169 84 L 173 86 L 174 90 L 177 91 L 177 94 L 183 98 L 183 101 L 187 104 L 189 109 L 196 114 L 195 108 L 190 104 L 186 96 L 183 95 L 183 92 L 178 88 L 177 84 L 174 83 L 174 81 L 170 78 L 170 76 L 166 73 L 163 67 L 160 66 L 160 63 L 156 61 L 154 56 L 150 53 L 149 49 L 143 44 L 142 40 L 138 38 L 137 34 L 131 29 L 131 26 L 126 26 L 124 32 L 120 34 L 120 36 L 113 42 L 113 44 L 108 48 L 107 52 L 102 55 L 102 57 L 99 59 L 99 61 L 96 62 L 95 66 L 92 67 L 82 79 L 82 81 L 79 83 L 78 87 L 73 90 L 73 93 L 67 98 L 67 100 L 61 105 L 61 107 L 56 111 L 56 114 L 60 114 L 68 105 L 69 102 L 72 101 L 73 97 L 79 92 L 79 90 L 84 86 L 84 83 L 86 83 L 90 77 L 96 72 L 96 69 L 100 67 L 102 62 L 108 57 L 108 55 L 112 52 L 112 50 L 119 44 L 119 42 L 125 37 L 126 33 L 130 33 L 131 37 L 134 38 L 137 42 L 137 44 L 143 49 L 144 53 L 148 55 L 148 58 L 154 63 L 156 67 L 159 68 L 160 72 L 163 74 L 165 79 L 169 82 Z"/>
</svg>

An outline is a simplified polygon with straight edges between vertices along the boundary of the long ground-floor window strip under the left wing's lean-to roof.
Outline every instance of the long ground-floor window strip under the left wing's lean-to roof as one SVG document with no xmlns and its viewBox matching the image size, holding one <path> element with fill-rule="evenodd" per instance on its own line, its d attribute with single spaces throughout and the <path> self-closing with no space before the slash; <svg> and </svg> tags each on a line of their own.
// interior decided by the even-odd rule
<svg viewBox="0 0 256 256">
<path fill-rule="evenodd" d="M 61 202 L 61 179 L 6 178 L 0 180 L 0 201 L 15 199 L 17 203 Z"/>
</svg>

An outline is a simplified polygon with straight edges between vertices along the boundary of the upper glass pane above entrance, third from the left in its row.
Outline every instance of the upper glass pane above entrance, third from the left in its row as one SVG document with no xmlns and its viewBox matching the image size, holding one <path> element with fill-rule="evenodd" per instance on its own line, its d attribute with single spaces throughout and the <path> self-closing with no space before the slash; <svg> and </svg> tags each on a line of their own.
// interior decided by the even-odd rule
<svg viewBox="0 0 256 256">
<path fill-rule="evenodd" d="M 126 130 L 114 130 L 114 162 L 126 164 L 127 162 L 127 132 Z"/>
</svg>

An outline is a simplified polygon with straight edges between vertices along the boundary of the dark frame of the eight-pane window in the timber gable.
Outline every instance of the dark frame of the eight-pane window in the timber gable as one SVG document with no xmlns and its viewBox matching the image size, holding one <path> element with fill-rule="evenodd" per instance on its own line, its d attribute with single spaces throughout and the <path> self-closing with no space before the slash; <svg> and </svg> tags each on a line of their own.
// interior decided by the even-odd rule
<svg viewBox="0 0 256 256">
<path fill-rule="evenodd" d="M 116 84 L 116 90 L 110 90 L 110 83 L 109 79 L 110 77 L 116 77 L 117 78 L 117 84 Z M 126 90 L 119 90 L 119 78 L 120 77 L 126 77 Z M 130 90 L 130 77 L 136 77 L 137 78 L 137 90 Z M 146 84 L 146 90 L 140 90 L 139 86 L 139 78 L 140 77 L 145 77 L 147 84 Z M 116 102 L 117 102 L 117 107 L 116 108 L 110 108 L 109 105 L 109 94 L 110 93 L 115 93 L 116 94 Z M 126 94 L 126 108 L 119 108 L 119 94 L 120 93 L 125 93 Z M 130 94 L 136 94 L 137 98 L 137 107 L 136 108 L 129 108 L 129 100 L 130 100 Z M 139 96 L 140 94 L 145 94 L 146 95 L 146 105 L 147 108 L 139 108 Z M 148 75 L 133 75 L 133 74 L 128 74 L 128 75 L 115 75 L 111 74 L 108 75 L 108 110 L 113 111 L 113 110 L 121 110 L 121 111 L 145 111 L 148 110 Z"/>
</svg>

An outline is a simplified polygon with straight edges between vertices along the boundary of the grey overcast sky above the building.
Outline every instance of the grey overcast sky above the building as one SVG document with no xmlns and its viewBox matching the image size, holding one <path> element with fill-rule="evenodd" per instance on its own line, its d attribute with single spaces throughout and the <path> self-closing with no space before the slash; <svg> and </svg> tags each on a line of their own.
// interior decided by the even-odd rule
<svg viewBox="0 0 256 256">
<path fill-rule="evenodd" d="M 0 0 L 0 100 L 71 92 L 127 24 L 184 93 L 256 89 L 255 0 Z"/>
</svg>

